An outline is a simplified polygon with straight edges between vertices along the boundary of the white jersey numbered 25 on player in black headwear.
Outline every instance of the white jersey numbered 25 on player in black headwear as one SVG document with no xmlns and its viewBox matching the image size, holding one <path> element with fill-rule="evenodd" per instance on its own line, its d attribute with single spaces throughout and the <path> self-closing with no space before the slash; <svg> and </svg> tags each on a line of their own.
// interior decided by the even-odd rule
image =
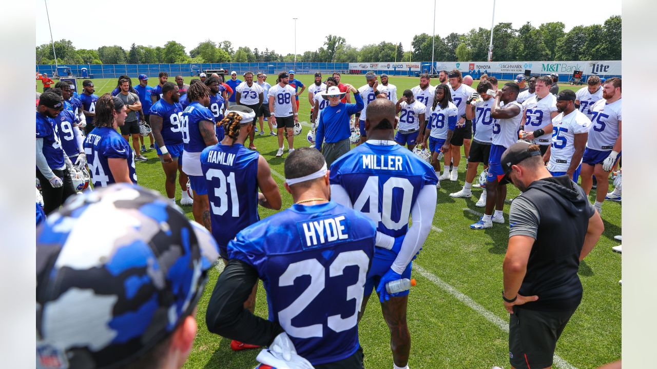
<svg viewBox="0 0 657 369">
<path fill-rule="evenodd" d="M 567 171 L 575 152 L 575 135 L 587 133 L 591 129 L 591 120 L 579 110 L 573 110 L 567 116 L 563 113 L 556 116 L 552 119 L 552 125 L 552 148 L 547 170 Z"/>
</svg>

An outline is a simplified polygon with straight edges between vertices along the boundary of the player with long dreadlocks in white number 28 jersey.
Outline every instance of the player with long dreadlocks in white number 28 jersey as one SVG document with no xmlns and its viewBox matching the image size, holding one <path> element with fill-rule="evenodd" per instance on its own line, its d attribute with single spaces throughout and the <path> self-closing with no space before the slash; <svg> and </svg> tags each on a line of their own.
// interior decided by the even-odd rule
<svg viewBox="0 0 657 369">
<path fill-rule="evenodd" d="M 443 83 L 436 86 L 434 105 L 429 118 L 430 134 L 428 135 L 429 151 L 431 152 L 431 164 L 434 166 L 436 176 L 440 176 L 440 152 L 448 152 L 449 141 L 454 135 L 458 120 L 459 110 L 451 99 L 451 90 Z M 426 147 L 426 139 L 424 146 Z M 445 173 L 449 173 L 449 162 L 445 160 Z M 436 188 L 440 188 L 440 177 Z"/>
</svg>

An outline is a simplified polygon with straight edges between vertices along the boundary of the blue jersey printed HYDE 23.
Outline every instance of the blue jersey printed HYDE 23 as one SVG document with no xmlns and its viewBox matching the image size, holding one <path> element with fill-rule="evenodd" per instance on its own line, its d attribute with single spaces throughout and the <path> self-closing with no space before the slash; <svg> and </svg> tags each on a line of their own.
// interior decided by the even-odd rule
<svg viewBox="0 0 657 369">
<path fill-rule="evenodd" d="M 319 365 L 359 347 L 357 316 L 375 240 L 374 223 L 357 211 L 335 202 L 296 204 L 239 232 L 228 255 L 258 271 L 269 320 Z"/>
</svg>

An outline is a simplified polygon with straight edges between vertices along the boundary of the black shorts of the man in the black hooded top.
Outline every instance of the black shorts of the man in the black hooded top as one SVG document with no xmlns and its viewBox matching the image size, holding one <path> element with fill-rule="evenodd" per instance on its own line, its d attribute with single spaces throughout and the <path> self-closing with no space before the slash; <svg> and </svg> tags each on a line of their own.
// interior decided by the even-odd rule
<svg viewBox="0 0 657 369">
<path fill-rule="evenodd" d="M 509 319 L 510 364 L 516 369 L 551 366 L 556 341 L 576 309 L 534 311 L 515 306 Z"/>
</svg>

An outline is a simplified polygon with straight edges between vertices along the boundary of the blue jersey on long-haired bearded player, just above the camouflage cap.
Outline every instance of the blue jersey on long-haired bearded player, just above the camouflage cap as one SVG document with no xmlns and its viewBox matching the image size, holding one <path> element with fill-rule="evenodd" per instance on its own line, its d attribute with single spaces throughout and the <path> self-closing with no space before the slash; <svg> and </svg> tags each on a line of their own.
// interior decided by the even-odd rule
<svg viewBox="0 0 657 369">
<path fill-rule="evenodd" d="M 91 171 L 91 181 L 94 187 L 106 187 L 116 182 L 107 162 L 110 158 L 127 160 L 130 180 L 137 184 L 135 155 L 127 141 L 115 129 L 94 128 L 87 135 L 83 146 L 84 153 L 87 154 L 87 164 Z"/>
</svg>

